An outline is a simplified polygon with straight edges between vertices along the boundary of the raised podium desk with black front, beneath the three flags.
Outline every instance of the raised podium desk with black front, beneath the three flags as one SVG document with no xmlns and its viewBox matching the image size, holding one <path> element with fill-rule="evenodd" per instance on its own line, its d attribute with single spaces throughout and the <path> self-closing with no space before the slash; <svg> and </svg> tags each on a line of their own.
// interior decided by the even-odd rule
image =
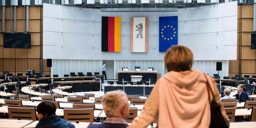
<svg viewBox="0 0 256 128">
<path fill-rule="evenodd" d="M 154 80 L 158 80 L 161 77 L 161 73 L 158 71 L 117 71 L 116 79 L 119 81 L 132 81 L 131 76 L 143 76 L 142 80 L 146 80 L 147 78 L 153 78 Z"/>
</svg>

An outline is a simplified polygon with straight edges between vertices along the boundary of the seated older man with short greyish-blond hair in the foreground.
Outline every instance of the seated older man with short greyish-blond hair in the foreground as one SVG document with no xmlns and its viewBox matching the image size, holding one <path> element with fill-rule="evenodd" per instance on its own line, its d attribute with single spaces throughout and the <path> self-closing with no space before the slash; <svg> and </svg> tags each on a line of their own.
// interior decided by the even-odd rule
<svg viewBox="0 0 256 128">
<path fill-rule="evenodd" d="M 122 90 L 106 92 L 102 99 L 103 110 L 107 118 L 101 124 L 92 124 L 88 128 L 126 128 L 129 105 L 126 93 Z"/>
</svg>

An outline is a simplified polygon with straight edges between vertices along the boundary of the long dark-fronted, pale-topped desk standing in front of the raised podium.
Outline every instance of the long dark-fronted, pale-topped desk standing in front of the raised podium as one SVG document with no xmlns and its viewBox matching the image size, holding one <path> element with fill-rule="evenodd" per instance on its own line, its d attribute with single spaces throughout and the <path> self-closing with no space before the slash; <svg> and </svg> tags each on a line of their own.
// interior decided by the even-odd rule
<svg viewBox="0 0 256 128">
<path fill-rule="evenodd" d="M 149 95 L 154 85 L 102 85 L 104 93 L 114 90 L 123 90 L 127 95 Z"/>
</svg>

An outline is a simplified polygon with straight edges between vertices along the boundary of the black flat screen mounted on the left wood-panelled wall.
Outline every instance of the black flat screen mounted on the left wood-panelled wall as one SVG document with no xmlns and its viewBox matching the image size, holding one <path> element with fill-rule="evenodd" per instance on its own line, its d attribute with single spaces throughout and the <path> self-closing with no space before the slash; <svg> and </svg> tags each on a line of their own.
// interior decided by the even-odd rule
<svg viewBox="0 0 256 128">
<path fill-rule="evenodd" d="M 3 33 L 4 48 L 31 48 L 31 34 Z"/>
</svg>

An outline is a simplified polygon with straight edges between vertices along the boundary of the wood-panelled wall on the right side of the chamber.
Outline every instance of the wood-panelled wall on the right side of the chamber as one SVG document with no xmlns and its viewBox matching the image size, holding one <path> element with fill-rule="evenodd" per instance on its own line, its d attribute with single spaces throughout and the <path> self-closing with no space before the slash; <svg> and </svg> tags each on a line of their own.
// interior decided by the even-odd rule
<svg viewBox="0 0 256 128">
<path fill-rule="evenodd" d="M 237 6 L 237 60 L 229 61 L 229 76 L 256 75 L 256 51 L 251 49 L 253 5 Z"/>
</svg>

